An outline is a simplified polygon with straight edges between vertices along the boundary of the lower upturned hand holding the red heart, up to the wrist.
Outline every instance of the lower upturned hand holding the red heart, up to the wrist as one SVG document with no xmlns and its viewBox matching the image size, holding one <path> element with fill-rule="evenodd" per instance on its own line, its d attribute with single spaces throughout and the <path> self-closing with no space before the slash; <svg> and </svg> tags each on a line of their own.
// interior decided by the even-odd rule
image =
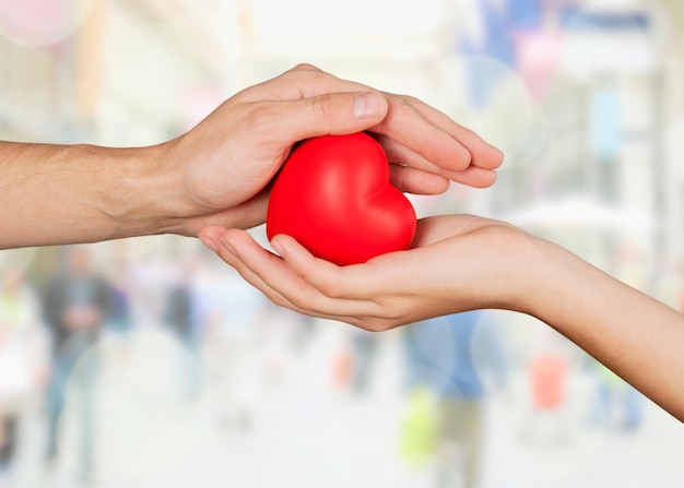
<svg viewBox="0 0 684 488">
<path fill-rule="evenodd" d="M 200 238 L 276 305 L 372 331 L 521 307 L 520 276 L 532 247 L 522 230 L 472 215 L 421 219 L 412 249 L 350 266 L 317 259 L 284 235 L 271 241 L 280 257 L 244 230 L 208 227 Z"/>
</svg>

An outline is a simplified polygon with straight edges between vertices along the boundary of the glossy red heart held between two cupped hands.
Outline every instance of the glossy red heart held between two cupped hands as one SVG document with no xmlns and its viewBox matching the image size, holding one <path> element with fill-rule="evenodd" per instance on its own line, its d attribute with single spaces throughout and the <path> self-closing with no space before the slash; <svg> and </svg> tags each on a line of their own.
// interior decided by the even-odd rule
<svg viewBox="0 0 684 488">
<path fill-rule="evenodd" d="M 411 202 L 390 183 L 382 146 L 363 132 L 298 145 L 269 201 L 267 236 L 294 237 L 339 265 L 408 249 L 415 235 Z"/>
</svg>

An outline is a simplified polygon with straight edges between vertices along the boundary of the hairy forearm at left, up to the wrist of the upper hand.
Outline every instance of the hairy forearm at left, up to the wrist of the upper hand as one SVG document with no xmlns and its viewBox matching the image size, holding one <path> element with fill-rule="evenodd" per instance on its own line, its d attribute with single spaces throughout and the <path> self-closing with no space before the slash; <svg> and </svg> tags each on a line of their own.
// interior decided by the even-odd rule
<svg viewBox="0 0 684 488">
<path fill-rule="evenodd" d="M 0 249 L 172 230 L 158 148 L 0 142 Z M 167 176 L 166 178 L 170 178 Z"/>
</svg>

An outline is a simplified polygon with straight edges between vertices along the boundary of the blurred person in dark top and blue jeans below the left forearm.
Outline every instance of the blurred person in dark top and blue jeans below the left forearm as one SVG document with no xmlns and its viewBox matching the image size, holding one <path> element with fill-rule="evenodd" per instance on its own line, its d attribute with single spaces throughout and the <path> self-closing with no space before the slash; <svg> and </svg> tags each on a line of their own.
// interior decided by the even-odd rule
<svg viewBox="0 0 684 488">
<path fill-rule="evenodd" d="M 52 371 L 48 389 L 48 461 L 58 456 L 58 421 L 67 403 L 68 388 L 80 400 L 80 473 L 93 476 L 94 410 L 97 357 L 93 346 L 114 312 L 113 293 L 107 281 L 93 269 L 90 250 L 64 248 L 66 264 L 43 290 L 43 311 L 52 335 Z"/>
</svg>

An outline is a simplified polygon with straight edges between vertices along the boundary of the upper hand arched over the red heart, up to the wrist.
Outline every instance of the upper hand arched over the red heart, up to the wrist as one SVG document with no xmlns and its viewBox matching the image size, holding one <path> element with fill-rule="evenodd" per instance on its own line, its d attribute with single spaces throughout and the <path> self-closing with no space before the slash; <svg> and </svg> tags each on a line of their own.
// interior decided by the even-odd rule
<svg viewBox="0 0 684 488">
<path fill-rule="evenodd" d="M 382 144 L 392 182 L 411 193 L 444 192 L 449 180 L 487 187 L 503 162 L 498 150 L 421 100 L 303 64 L 236 94 L 164 145 L 165 164 L 182 176 L 179 231 L 263 223 L 268 185 L 295 143 L 359 131 Z"/>
</svg>

